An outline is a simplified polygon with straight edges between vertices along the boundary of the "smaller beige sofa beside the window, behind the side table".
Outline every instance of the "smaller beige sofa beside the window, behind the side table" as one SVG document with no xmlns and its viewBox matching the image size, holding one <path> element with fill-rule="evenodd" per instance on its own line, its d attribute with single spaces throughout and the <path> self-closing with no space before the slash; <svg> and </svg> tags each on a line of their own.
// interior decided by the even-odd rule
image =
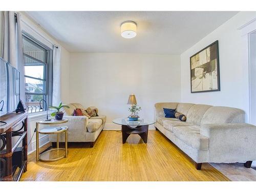
<svg viewBox="0 0 256 192">
<path fill-rule="evenodd" d="M 74 110 L 76 108 L 84 108 L 80 103 L 70 103 L 67 104 L 70 108 L 63 109 L 65 112 L 64 117 L 69 121 L 67 123 L 61 124 L 69 127 L 68 130 L 68 142 L 90 142 L 90 146 L 93 147 L 94 142 L 102 131 L 105 122 L 106 116 L 99 115 L 97 117 L 91 117 L 90 119 L 87 116 L 73 116 Z M 95 106 L 90 106 L 91 109 L 98 109 Z M 50 141 L 56 142 L 56 134 L 50 135 Z M 60 134 L 59 141 L 64 142 L 64 134 Z"/>
</svg>

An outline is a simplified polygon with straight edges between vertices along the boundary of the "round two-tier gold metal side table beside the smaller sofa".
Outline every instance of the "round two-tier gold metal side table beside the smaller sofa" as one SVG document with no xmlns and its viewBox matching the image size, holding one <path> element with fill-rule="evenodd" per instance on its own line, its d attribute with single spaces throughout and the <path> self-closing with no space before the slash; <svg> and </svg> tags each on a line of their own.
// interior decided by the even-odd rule
<svg viewBox="0 0 256 192">
<path fill-rule="evenodd" d="M 52 162 L 63 159 L 68 156 L 68 127 L 67 126 L 58 126 L 58 124 L 66 123 L 68 119 L 62 120 L 55 120 L 52 119 L 51 121 L 42 120 L 36 122 L 36 161 L 42 162 Z M 45 127 L 39 130 L 39 124 L 48 124 L 48 125 L 55 125 Z M 65 148 L 59 148 L 59 134 L 65 133 Z M 39 156 L 39 134 L 57 134 L 57 147 L 52 148 L 46 152 L 43 152 Z"/>
</svg>

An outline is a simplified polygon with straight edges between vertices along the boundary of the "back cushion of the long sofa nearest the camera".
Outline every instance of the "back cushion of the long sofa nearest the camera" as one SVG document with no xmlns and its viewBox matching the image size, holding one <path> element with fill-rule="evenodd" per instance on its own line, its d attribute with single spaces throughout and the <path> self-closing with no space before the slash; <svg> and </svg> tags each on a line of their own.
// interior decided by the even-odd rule
<svg viewBox="0 0 256 192">
<path fill-rule="evenodd" d="M 187 112 L 187 122 L 195 125 L 201 124 L 201 120 L 205 112 L 211 108 L 211 105 L 207 104 L 195 104 Z"/>
</svg>

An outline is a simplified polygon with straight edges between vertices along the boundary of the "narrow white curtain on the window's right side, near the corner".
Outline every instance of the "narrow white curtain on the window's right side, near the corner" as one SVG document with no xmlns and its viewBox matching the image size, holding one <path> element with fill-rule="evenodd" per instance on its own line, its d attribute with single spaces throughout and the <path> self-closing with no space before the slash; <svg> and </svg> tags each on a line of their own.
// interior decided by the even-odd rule
<svg viewBox="0 0 256 192">
<path fill-rule="evenodd" d="M 56 106 L 61 101 L 61 49 L 60 46 L 53 48 L 53 91 L 52 105 Z"/>
</svg>

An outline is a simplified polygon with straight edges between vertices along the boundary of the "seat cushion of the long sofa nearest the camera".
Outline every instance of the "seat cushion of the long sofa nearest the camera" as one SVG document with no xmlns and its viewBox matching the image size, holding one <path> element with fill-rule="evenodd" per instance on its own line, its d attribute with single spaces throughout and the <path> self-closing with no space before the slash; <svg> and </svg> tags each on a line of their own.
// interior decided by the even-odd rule
<svg viewBox="0 0 256 192">
<path fill-rule="evenodd" d="M 209 139 L 200 135 L 200 126 L 176 126 L 174 135 L 197 150 L 208 150 Z"/>
</svg>

